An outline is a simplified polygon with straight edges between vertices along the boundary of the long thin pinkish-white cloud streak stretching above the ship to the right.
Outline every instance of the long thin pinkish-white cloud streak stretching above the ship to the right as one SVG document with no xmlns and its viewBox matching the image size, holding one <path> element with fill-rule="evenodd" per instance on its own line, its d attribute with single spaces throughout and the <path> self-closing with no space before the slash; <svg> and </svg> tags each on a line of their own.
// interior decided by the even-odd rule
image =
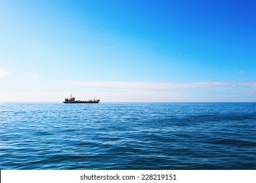
<svg viewBox="0 0 256 183">
<path fill-rule="evenodd" d="M 104 87 L 104 88 L 127 88 L 127 89 L 175 89 L 175 88 L 207 88 L 216 86 L 240 86 L 256 87 L 256 82 L 115 82 L 115 81 L 73 81 L 66 82 L 70 86 Z"/>
</svg>

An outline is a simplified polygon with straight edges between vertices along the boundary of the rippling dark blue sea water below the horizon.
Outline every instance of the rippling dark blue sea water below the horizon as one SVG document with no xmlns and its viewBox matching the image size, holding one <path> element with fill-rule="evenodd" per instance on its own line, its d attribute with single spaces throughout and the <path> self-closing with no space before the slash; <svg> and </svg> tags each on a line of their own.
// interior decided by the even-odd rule
<svg viewBox="0 0 256 183">
<path fill-rule="evenodd" d="M 256 169 L 256 103 L 0 103 L 0 169 Z"/>
</svg>

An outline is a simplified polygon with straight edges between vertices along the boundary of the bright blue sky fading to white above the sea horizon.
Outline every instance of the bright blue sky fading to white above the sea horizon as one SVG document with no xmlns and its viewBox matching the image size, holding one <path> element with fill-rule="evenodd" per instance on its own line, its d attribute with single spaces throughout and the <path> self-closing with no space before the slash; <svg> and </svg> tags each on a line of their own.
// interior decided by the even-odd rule
<svg viewBox="0 0 256 183">
<path fill-rule="evenodd" d="M 0 101 L 255 102 L 256 1 L 0 1 Z"/>
</svg>

